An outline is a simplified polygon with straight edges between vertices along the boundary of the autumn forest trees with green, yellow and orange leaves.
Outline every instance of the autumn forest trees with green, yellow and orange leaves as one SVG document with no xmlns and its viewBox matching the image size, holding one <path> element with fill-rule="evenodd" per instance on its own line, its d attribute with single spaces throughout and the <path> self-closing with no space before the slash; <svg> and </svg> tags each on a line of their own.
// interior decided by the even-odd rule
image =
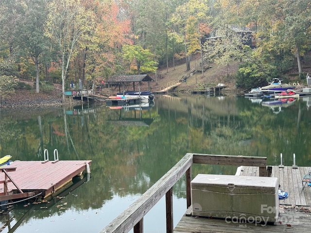
<svg viewBox="0 0 311 233">
<path fill-rule="evenodd" d="M 64 91 L 71 80 L 94 86 L 112 75 L 152 76 L 178 59 L 189 70 L 195 54 L 242 61 L 240 86 L 292 67 L 304 77 L 310 62 L 305 0 L 1 0 L 0 11 L 0 63 L 12 64 L 0 78 L 33 80 L 36 92 L 41 81 Z"/>
</svg>

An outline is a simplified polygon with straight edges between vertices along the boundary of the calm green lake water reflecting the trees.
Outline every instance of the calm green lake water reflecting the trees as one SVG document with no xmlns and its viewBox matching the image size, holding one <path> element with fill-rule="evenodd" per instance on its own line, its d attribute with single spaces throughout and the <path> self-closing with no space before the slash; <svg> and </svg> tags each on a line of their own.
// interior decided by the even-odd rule
<svg viewBox="0 0 311 233">
<path fill-rule="evenodd" d="M 243 97 L 155 96 L 147 106 L 89 104 L 0 111 L 0 157 L 92 160 L 91 176 L 49 202 L 0 213 L 2 232 L 98 233 L 187 152 L 266 156 L 268 165 L 311 166 L 311 99 L 263 106 Z M 235 174 L 236 166 L 193 165 Z M 186 211 L 185 179 L 173 187 L 174 226 Z M 3 186 L 0 186 L 3 188 Z M 286 191 L 286 190 L 285 190 Z M 165 200 L 144 217 L 144 232 L 165 232 Z"/>
</svg>

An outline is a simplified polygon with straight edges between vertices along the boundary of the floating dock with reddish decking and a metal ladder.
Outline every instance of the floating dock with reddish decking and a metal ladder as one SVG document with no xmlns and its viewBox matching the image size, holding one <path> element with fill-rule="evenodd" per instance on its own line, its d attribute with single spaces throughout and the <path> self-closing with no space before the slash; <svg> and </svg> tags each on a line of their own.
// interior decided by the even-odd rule
<svg viewBox="0 0 311 233">
<path fill-rule="evenodd" d="M 0 168 L 0 201 L 39 195 L 46 199 L 89 170 L 91 160 L 15 161 Z"/>
</svg>

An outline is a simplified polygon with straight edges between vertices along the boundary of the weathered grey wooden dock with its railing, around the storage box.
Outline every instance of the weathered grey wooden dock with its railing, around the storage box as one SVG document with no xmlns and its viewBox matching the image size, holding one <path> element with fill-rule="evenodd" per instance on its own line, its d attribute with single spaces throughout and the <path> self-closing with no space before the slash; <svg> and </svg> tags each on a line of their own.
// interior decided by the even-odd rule
<svg viewBox="0 0 311 233">
<path fill-rule="evenodd" d="M 288 200 L 279 201 L 277 221 L 265 224 L 262 219 L 233 217 L 216 219 L 191 216 L 191 166 L 192 164 L 239 166 L 236 175 L 275 176 L 281 188 L 288 193 Z M 281 163 L 282 164 L 282 163 Z M 161 179 L 149 188 L 138 200 L 111 221 L 100 233 L 143 232 L 143 217 L 158 200 L 166 200 L 167 233 L 255 233 L 255 232 L 311 232 L 311 187 L 302 190 L 302 179 L 309 175 L 310 167 L 267 166 L 266 157 L 234 156 L 187 153 Z M 186 179 L 187 211 L 173 228 L 173 185 L 182 177 Z M 311 182 L 311 174 L 304 183 Z M 277 200 L 277 199 L 276 199 Z M 207 200 L 210 201 L 210 200 Z M 288 203 L 288 204 L 285 204 Z M 300 205 L 299 205 L 300 203 Z M 245 201 L 245 205 L 253 203 Z M 276 203 L 277 204 L 277 203 Z M 305 205 L 302 205 L 305 204 Z M 273 210 L 272 210 L 273 211 Z M 242 219 L 241 219 L 242 218 Z M 247 222 L 248 220 L 248 222 Z M 259 222 L 259 220 L 261 220 Z"/>
</svg>

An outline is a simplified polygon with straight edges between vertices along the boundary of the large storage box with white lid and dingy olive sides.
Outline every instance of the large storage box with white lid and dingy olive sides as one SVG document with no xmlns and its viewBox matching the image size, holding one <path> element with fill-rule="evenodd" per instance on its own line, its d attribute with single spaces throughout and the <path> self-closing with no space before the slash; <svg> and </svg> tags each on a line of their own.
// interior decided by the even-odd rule
<svg viewBox="0 0 311 233">
<path fill-rule="evenodd" d="M 193 216 L 275 222 L 278 180 L 276 177 L 198 174 L 191 181 L 191 203 Z"/>
</svg>

